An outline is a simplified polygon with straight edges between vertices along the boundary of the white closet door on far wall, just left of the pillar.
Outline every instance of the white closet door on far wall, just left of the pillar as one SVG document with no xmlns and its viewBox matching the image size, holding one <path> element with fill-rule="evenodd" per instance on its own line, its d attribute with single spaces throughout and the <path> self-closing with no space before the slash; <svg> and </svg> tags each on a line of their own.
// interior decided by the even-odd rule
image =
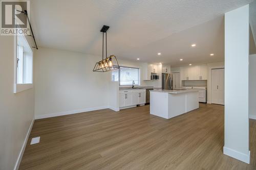
<svg viewBox="0 0 256 170">
<path fill-rule="evenodd" d="M 224 105 L 224 68 L 211 70 L 211 103 Z"/>
</svg>

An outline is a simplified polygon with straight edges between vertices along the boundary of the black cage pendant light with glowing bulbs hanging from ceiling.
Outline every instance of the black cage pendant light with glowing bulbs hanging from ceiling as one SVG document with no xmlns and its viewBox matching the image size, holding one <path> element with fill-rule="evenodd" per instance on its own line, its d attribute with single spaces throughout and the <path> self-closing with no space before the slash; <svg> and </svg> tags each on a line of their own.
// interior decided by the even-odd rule
<svg viewBox="0 0 256 170">
<path fill-rule="evenodd" d="M 102 32 L 102 60 L 99 62 L 96 62 L 93 68 L 93 71 L 106 72 L 106 71 L 119 69 L 116 56 L 111 55 L 110 57 L 107 57 L 107 51 L 106 51 L 106 57 L 104 59 L 104 33 L 105 33 L 105 43 L 106 43 L 106 31 L 108 31 L 109 28 L 110 28 L 109 26 L 104 25 L 100 30 L 100 32 Z"/>
</svg>

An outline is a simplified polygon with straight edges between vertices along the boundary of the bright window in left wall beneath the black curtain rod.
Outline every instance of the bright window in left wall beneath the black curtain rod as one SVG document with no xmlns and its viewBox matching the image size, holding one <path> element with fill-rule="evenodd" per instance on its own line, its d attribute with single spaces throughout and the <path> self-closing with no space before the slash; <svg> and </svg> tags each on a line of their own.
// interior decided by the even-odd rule
<svg viewBox="0 0 256 170">
<path fill-rule="evenodd" d="M 24 36 L 16 36 L 14 93 L 32 88 L 33 53 Z"/>
</svg>

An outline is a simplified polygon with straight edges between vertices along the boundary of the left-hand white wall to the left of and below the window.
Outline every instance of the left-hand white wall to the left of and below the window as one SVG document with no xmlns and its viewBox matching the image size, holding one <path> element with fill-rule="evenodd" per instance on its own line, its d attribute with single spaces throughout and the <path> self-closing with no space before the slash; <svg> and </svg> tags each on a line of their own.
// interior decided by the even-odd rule
<svg viewBox="0 0 256 170">
<path fill-rule="evenodd" d="M 14 36 L 0 36 L 0 169 L 13 169 L 34 118 L 34 89 L 13 93 Z"/>
</svg>

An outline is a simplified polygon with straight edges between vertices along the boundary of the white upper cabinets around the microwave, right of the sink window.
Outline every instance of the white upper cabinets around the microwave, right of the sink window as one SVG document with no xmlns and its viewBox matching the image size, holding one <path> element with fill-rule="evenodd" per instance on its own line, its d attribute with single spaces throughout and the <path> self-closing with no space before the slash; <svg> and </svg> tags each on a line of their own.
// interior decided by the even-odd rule
<svg viewBox="0 0 256 170">
<path fill-rule="evenodd" d="M 151 75 L 159 75 L 161 66 L 157 64 L 143 64 L 143 80 L 152 80 Z"/>
</svg>

